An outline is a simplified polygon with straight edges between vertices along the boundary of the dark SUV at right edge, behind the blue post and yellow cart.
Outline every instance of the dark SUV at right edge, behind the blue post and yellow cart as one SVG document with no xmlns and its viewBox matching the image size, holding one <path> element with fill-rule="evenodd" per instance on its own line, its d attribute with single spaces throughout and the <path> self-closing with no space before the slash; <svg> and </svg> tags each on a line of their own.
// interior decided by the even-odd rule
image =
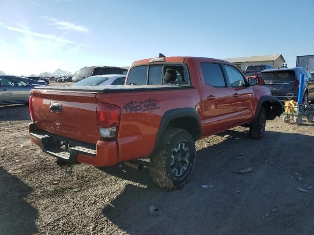
<svg viewBox="0 0 314 235">
<path fill-rule="evenodd" d="M 258 77 L 263 79 L 264 86 L 273 96 L 285 102 L 287 94 L 293 94 L 293 99 L 298 100 L 301 74 L 304 74 L 303 102 L 314 101 L 314 78 L 302 67 L 262 71 Z"/>
</svg>

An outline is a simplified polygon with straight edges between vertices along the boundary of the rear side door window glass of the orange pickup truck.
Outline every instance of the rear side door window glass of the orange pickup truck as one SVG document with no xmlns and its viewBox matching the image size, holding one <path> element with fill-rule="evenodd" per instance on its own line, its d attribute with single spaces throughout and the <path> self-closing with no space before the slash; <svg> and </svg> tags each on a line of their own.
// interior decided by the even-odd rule
<svg viewBox="0 0 314 235">
<path fill-rule="evenodd" d="M 204 81 L 212 87 L 226 87 L 226 81 L 219 64 L 201 63 Z"/>
</svg>

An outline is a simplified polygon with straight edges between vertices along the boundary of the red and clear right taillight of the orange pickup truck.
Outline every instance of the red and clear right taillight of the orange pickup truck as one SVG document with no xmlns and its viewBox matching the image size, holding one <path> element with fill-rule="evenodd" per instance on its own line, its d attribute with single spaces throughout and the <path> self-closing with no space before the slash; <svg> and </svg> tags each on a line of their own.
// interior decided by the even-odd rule
<svg viewBox="0 0 314 235">
<path fill-rule="evenodd" d="M 121 109 L 119 106 L 97 103 L 97 125 L 101 138 L 115 138 L 118 132 Z"/>
</svg>

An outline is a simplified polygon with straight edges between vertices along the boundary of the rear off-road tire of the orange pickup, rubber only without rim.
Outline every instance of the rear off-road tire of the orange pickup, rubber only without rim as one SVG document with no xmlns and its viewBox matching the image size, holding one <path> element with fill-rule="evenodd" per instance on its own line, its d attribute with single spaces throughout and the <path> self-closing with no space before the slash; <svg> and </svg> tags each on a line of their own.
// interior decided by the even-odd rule
<svg viewBox="0 0 314 235">
<path fill-rule="evenodd" d="M 171 170 L 172 154 L 178 143 L 184 143 L 189 151 L 189 163 L 182 176 L 175 176 Z M 185 145 L 184 145 L 185 146 Z M 183 129 L 170 128 L 162 140 L 161 147 L 150 158 L 150 173 L 159 188 L 168 190 L 182 188 L 191 175 L 195 159 L 195 142 L 190 133 Z"/>
</svg>

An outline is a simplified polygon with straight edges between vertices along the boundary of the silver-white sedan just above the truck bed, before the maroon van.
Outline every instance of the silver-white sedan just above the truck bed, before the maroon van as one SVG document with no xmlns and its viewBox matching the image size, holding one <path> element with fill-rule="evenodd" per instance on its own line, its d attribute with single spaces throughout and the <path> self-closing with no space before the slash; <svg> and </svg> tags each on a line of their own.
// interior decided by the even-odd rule
<svg viewBox="0 0 314 235">
<path fill-rule="evenodd" d="M 105 85 L 124 85 L 126 75 L 109 74 L 97 75 L 85 78 L 72 86 L 105 86 Z"/>
</svg>

